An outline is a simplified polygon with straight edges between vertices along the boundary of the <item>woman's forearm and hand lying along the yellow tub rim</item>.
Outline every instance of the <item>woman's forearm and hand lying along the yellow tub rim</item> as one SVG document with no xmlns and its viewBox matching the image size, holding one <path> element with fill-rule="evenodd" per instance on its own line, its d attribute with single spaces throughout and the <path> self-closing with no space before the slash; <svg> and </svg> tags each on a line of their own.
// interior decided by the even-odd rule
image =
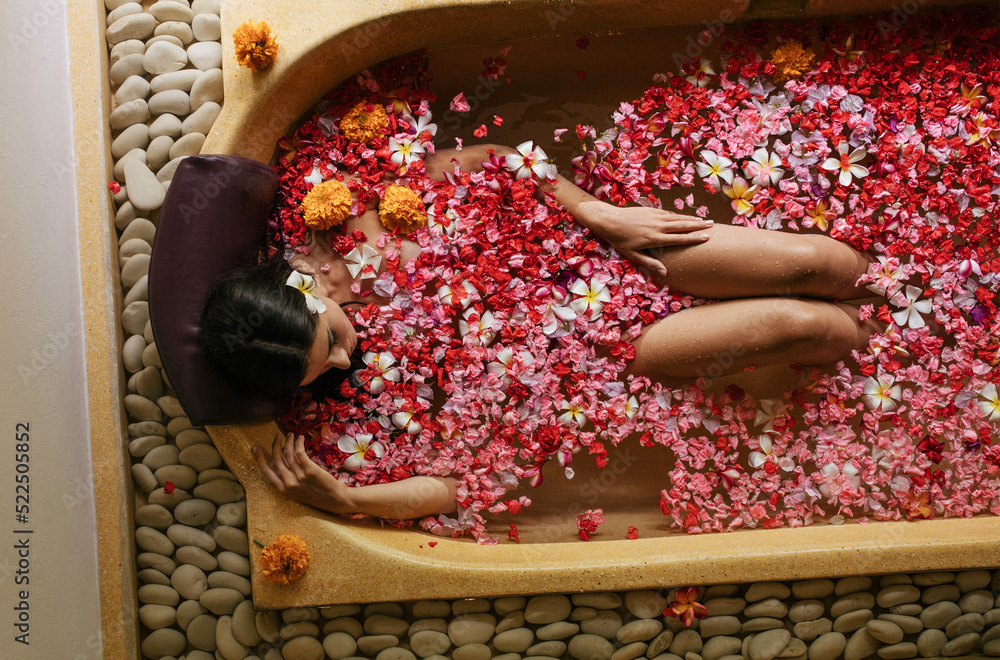
<svg viewBox="0 0 1000 660">
<path fill-rule="evenodd" d="M 284 445 L 284 446 L 282 446 Z M 454 513 L 457 482 L 447 477 L 410 477 L 388 484 L 351 487 L 317 465 L 305 451 L 305 438 L 275 435 L 268 462 L 253 447 L 264 477 L 289 498 L 331 513 L 364 513 L 378 518 L 409 520 Z"/>
</svg>

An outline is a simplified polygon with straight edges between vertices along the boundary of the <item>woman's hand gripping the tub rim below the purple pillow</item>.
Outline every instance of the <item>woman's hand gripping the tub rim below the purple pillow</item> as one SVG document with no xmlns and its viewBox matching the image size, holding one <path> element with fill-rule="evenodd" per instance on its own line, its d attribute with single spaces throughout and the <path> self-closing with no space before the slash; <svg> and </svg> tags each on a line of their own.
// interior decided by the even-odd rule
<svg viewBox="0 0 1000 660">
<path fill-rule="evenodd" d="M 253 454 L 264 477 L 289 498 L 331 513 L 356 513 L 351 488 L 313 462 L 306 454 L 305 437 L 291 433 L 282 442 L 275 434 L 271 460 L 254 445 Z M 282 446 L 284 445 L 284 446 Z"/>
</svg>

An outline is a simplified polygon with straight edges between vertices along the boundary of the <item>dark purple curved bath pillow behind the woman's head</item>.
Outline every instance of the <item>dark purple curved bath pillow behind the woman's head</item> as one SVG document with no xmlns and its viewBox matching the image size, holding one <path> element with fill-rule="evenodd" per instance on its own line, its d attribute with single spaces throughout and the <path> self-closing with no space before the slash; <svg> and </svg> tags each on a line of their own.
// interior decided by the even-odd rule
<svg viewBox="0 0 1000 660">
<path fill-rule="evenodd" d="M 160 210 L 149 263 L 149 320 L 170 384 L 191 423 L 272 419 L 284 399 L 252 394 L 202 355 L 198 324 L 215 285 L 256 264 L 278 190 L 277 173 L 254 160 L 185 158 Z"/>
</svg>

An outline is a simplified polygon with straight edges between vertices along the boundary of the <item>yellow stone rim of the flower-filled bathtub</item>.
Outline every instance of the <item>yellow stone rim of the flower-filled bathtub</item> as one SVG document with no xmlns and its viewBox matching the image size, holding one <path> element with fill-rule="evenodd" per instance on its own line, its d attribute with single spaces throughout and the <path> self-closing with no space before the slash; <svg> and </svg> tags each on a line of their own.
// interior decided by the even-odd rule
<svg viewBox="0 0 1000 660">
<path fill-rule="evenodd" d="M 227 65 L 223 110 L 203 148 L 203 153 L 229 153 L 269 162 L 274 144 L 288 128 L 328 89 L 348 75 L 388 57 L 419 47 L 454 45 L 454 35 L 420 23 L 431 11 L 456 11 L 473 15 L 471 37 L 462 43 L 525 38 L 547 31 L 539 17 L 551 3 L 542 0 L 515 0 L 497 6 L 490 0 L 438 0 L 413 3 L 396 0 L 382 8 L 366 7 L 347 14 L 339 9 L 347 3 L 331 2 L 311 8 L 309 20 L 304 10 L 292 1 L 263 4 L 260 0 L 231 0 L 223 8 L 222 44 L 224 61 L 234 61 L 232 34 L 247 19 L 267 21 L 277 35 L 279 56 L 270 69 L 252 73 L 243 67 Z M 592 0 L 567 17 L 561 33 L 586 32 L 587 20 L 595 20 L 604 10 L 614 10 L 617 23 L 601 23 L 602 30 L 666 24 L 695 23 L 687 14 L 673 14 L 665 20 L 666 8 L 628 10 L 613 0 Z M 702 6 L 700 15 L 720 3 Z M 727 7 L 734 6 L 724 2 Z M 888 3 L 887 3 L 888 4 Z M 950 3 L 949 3 L 950 4 Z M 461 5 L 461 9 L 458 6 Z M 741 15 L 747 3 L 740 4 Z M 870 13 L 871 6 L 857 3 L 810 3 L 818 7 L 811 15 Z M 889 8 L 889 7 L 886 7 Z M 522 20 L 507 25 L 517 11 L 534 12 L 536 21 Z M 631 14 L 629 13 L 631 11 Z M 690 11 L 690 10 L 689 10 Z M 366 13 L 367 12 L 367 13 Z M 624 18 L 622 18 L 624 17 Z M 640 20 L 641 19 L 641 20 Z M 481 21 L 493 32 L 482 37 Z M 499 21 L 499 26 L 497 25 Z M 637 23 L 638 21 L 638 23 Z M 440 21 L 454 24 L 455 21 Z M 418 24 L 424 30 L 410 29 L 405 37 L 393 38 L 400 26 Z M 529 28 L 525 29 L 524 24 Z M 324 26 L 317 29 L 316 26 Z M 531 29 L 530 26 L 535 26 Z M 388 34 L 387 34 L 388 33 Z M 374 36 L 379 36 L 375 39 Z M 364 40 L 379 44 L 359 48 Z M 360 40 L 360 41 L 359 41 Z M 390 45 L 391 44 L 391 45 Z M 332 63 L 331 57 L 344 55 Z M 310 76 L 309 72 L 313 75 Z M 302 87 L 309 80 L 311 87 Z M 305 89 L 305 92 L 301 91 Z M 298 90 L 292 92 L 291 90 Z M 284 105 L 276 99 L 283 99 Z M 259 571 L 252 574 L 253 601 L 258 608 L 285 608 L 302 605 L 325 605 L 344 602 L 415 600 L 420 598 L 460 598 L 501 596 L 526 593 L 572 593 L 597 589 L 636 589 L 679 584 L 752 582 L 761 579 L 793 580 L 816 577 L 872 574 L 885 571 L 925 571 L 951 568 L 990 567 L 1000 563 L 1000 518 L 987 516 L 972 519 L 919 521 L 919 524 L 870 523 L 849 524 L 831 531 L 828 526 L 803 529 L 767 530 L 752 539 L 752 547 L 738 557 L 726 555 L 734 538 L 729 535 L 640 539 L 639 541 L 601 541 L 590 544 L 539 544 L 516 546 L 501 543 L 493 547 L 475 546 L 446 538 L 430 537 L 412 530 L 379 530 L 360 526 L 288 500 L 279 501 L 257 470 L 250 444 L 270 445 L 277 426 L 272 423 L 231 427 L 208 427 L 212 439 L 234 474 L 246 489 L 248 532 L 251 539 L 265 540 L 279 533 L 297 533 L 318 556 L 352 556 L 356 567 L 344 575 L 336 562 L 314 564 L 314 572 L 303 577 L 295 588 L 269 583 Z M 322 530 L 320 533 L 317 530 Z M 734 532 L 739 535 L 752 531 Z M 787 536 L 794 534 L 794 536 Z M 774 536 L 771 536 L 774 535 Z M 759 541 L 757 539 L 760 539 Z M 414 549 L 427 541 L 438 541 L 433 552 Z M 851 544 L 847 544 L 851 541 Z M 635 545 L 623 546 L 622 543 Z M 783 566 L 772 559 L 790 544 L 808 546 L 794 557 L 783 557 Z M 681 544 L 682 547 L 675 547 Z M 714 554 L 705 548 L 718 546 Z M 368 554 L 358 561 L 356 553 Z M 251 558 L 256 563 L 260 548 L 251 544 Z M 771 554 L 767 554 L 770 552 Z M 673 555 L 666 557 L 665 555 Z M 626 559 L 627 557 L 627 559 Z M 625 563 L 627 565 L 623 566 Z M 498 568 L 498 564 L 505 564 Z M 319 567 L 324 567 L 321 570 Z M 406 572 L 401 582 L 387 581 L 386 574 Z M 438 576 L 438 577 L 435 577 Z M 447 578 L 447 579 L 442 579 Z M 445 583 L 442 588 L 440 583 Z M 596 584 L 595 584 L 596 582 Z M 436 591 L 431 591 L 433 588 Z"/>
</svg>

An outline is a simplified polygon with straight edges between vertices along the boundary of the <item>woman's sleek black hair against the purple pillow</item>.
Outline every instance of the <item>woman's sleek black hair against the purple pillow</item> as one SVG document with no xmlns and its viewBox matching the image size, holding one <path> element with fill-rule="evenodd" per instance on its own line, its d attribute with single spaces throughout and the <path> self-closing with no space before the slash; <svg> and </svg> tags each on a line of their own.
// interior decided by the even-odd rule
<svg viewBox="0 0 1000 660">
<path fill-rule="evenodd" d="M 205 303 L 202 350 L 248 390 L 285 396 L 305 377 L 316 316 L 305 296 L 285 285 L 291 272 L 280 255 L 234 271 Z"/>
</svg>

